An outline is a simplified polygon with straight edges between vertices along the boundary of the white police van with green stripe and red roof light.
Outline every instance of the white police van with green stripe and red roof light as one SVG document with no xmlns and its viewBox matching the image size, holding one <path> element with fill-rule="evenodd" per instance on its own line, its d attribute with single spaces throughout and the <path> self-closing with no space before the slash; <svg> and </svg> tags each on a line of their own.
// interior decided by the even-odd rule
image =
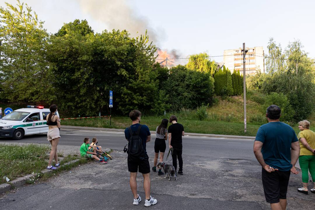
<svg viewBox="0 0 315 210">
<path fill-rule="evenodd" d="M 0 137 L 20 140 L 26 135 L 47 133 L 46 116 L 49 109 L 43 106 L 30 106 L 17 109 L 0 119 Z M 59 116 L 58 111 L 56 115 Z"/>
</svg>

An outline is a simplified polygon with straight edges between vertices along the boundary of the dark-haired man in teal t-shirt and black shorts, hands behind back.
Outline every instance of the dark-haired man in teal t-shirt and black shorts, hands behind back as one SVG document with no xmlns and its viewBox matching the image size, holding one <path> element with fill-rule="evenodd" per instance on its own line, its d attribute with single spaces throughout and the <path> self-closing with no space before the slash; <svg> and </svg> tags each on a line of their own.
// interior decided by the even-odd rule
<svg viewBox="0 0 315 210">
<path fill-rule="evenodd" d="M 267 124 L 256 134 L 254 153 L 261 164 L 262 185 L 266 201 L 272 209 L 285 209 L 290 172 L 297 174 L 294 165 L 300 154 L 295 131 L 280 122 L 281 109 L 277 105 L 267 108 Z"/>
</svg>

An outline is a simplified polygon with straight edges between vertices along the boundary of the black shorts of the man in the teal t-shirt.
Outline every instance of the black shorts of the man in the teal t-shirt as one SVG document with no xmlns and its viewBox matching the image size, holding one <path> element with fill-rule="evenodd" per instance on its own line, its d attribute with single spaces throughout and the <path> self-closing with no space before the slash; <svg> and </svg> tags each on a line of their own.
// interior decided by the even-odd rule
<svg viewBox="0 0 315 210">
<path fill-rule="evenodd" d="M 279 199 L 287 199 L 287 190 L 290 179 L 290 171 L 274 171 L 271 173 L 262 169 L 262 185 L 266 201 L 268 203 L 278 203 Z"/>
</svg>

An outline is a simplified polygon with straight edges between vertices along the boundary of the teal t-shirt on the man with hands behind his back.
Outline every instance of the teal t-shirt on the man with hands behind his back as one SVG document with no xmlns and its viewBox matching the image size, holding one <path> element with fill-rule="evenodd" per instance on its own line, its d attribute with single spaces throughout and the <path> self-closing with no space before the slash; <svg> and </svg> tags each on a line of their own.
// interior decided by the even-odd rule
<svg viewBox="0 0 315 210">
<path fill-rule="evenodd" d="M 283 122 L 269 122 L 262 125 L 255 141 L 263 143 L 261 153 L 266 164 L 279 171 L 289 171 L 291 164 L 291 143 L 298 141 L 291 126 Z"/>
</svg>

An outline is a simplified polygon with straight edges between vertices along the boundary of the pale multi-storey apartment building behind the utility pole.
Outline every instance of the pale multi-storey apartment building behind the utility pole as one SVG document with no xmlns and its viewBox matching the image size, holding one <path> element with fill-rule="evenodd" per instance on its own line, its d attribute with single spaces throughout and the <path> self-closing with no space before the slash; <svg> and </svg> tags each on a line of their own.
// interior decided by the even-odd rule
<svg viewBox="0 0 315 210">
<path fill-rule="evenodd" d="M 263 47 L 246 48 L 245 74 L 255 74 L 256 69 L 265 72 L 265 59 Z M 234 69 L 243 74 L 242 48 L 224 50 L 223 62 L 232 73 Z"/>
</svg>

